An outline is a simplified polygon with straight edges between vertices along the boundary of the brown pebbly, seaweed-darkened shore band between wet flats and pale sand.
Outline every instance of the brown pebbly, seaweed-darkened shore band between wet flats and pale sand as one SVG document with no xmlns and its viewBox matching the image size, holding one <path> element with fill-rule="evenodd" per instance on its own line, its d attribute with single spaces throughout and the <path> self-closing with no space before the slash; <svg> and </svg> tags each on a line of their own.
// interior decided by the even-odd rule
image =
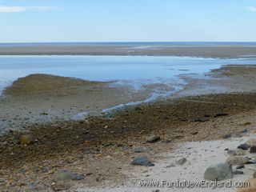
<svg viewBox="0 0 256 192">
<path fill-rule="evenodd" d="M 127 107 L 85 121 L 30 126 L 29 134 L 10 131 L 0 144 L 1 189 L 75 191 L 78 186 L 105 182 L 123 185 L 130 162 L 142 156 L 134 150 L 146 150 L 142 153 L 157 164 L 158 154 L 174 150 L 175 143 L 254 133 L 255 96 L 190 96 Z M 160 140 L 147 142 L 151 136 Z M 63 186 L 52 181 L 60 170 L 76 176 Z"/>
</svg>

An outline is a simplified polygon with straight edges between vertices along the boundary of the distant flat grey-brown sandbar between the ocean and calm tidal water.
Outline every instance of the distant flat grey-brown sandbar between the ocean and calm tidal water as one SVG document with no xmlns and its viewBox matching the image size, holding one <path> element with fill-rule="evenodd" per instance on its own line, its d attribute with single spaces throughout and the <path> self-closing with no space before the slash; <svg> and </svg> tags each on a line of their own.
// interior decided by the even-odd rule
<svg viewBox="0 0 256 192">
<path fill-rule="evenodd" d="M 255 57 L 255 46 L 10 46 L 0 55 L 148 55 L 202 58 Z"/>
</svg>

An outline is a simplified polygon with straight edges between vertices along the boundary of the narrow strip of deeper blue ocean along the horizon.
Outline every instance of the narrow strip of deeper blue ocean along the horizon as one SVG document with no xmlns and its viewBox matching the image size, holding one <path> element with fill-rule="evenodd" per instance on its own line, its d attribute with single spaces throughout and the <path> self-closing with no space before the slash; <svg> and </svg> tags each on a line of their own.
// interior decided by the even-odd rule
<svg viewBox="0 0 256 192">
<path fill-rule="evenodd" d="M 256 42 L 22 42 L 0 46 L 256 46 Z"/>
</svg>

